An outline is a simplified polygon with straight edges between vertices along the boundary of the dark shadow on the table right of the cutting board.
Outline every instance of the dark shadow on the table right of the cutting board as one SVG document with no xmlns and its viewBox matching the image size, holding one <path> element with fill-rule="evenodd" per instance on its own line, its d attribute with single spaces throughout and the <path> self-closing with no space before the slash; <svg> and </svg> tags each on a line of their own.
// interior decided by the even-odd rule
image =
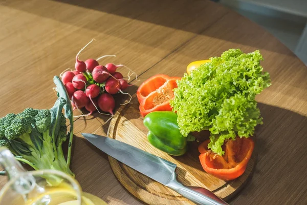
<svg viewBox="0 0 307 205">
<path fill-rule="evenodd" d="M 288 200 L 281 190 L 283 186 L 295 190 L 307 183 L 301 175 L 301 171 L 307 169 L 307 117 L 262 103 L 258 107 L 264 124 L 257 126 L 255 132 L 256 166 L 246 187 L 229 201 L 231 204 L 245 201 L 246 197 L 253 198 L 255 204 L 265 201 L 269 204 L 273 199 L 277 201 L 272 204 L 280 204 Z M 288 179 L 293 182 L 287 182 Z"/>
</svg>

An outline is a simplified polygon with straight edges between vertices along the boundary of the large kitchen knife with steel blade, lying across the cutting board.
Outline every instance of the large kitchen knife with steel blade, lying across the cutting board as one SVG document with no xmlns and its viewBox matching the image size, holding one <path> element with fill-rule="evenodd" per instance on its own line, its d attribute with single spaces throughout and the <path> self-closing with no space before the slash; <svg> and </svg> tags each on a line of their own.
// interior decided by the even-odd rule
<svg viewBox="0 0 307 205">
<path fill-rule="evenodd" d="M 82 133 L 82 135 L 107 155 L 178 192 L 196 204 L 228 204 L 207 189 L 182 185 L 177 180 L 175 172 L 177 165 L 170 161 L 115 139 L 89 133 Z"/>
</svg>

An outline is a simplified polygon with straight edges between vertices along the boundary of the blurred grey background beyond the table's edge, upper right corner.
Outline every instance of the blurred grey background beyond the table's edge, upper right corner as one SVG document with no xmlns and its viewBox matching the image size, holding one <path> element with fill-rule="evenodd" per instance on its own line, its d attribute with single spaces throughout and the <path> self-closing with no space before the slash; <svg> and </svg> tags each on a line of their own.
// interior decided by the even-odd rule
<svg viewBox="0 0 307 205">
<path fill-rule="evenodd" d="M 221 0 L 220 3 L 234 9 L 236 12 L 246 16 L 253 22 L 264 27 L 292 50 L 307 65 L 307 18 L 297 16 L 290 13 L 280 12 L 268 7 L 257 6 L 259 4 L 251 4 L 246 2 L 267 2 L 267 0 Z M 301 0 L 288 0 L 292 4 L 297 5 Z M 269 3 L 284 0 L 268 0 Z M 307 0 L 303 0 L 303 6 L 307 6 Z M 295 8 L 293 5 L 292 8 Z M 307 14 L 307 8 L 304 9 Z"/>
</svg>

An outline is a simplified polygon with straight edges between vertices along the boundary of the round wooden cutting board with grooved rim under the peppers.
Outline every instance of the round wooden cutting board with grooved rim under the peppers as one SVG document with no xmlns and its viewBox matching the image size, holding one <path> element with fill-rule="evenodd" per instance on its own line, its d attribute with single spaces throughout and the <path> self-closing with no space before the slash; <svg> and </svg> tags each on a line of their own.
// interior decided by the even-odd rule
<svg viewBox="0 0 307 205">
<path fill-rule="evenodd" d="M 249 161 L 245 173 L 232 181 L 224 181 L 207 174 L 199 161 L 197 142 L 189 145 L 189 150 L 183 156 L 171 156 L 147 141 L 147 128 L 143 125 L 143 117 L 139 112 L 139 102 L 136 96 L 131 102 L 122 106 L 115 114 L 109 127 L 108 137 L 123 141 L 151 154 L 162 157 L 177 164 L 178 180 L 187 186 L 203 187 L 218 197 L 229 200 L 247 182 L 255 165 L 255 151 Z M 148 204 L 194 204 L 160 183 L 129 168 L 112 157 L 108 157 L 111 167 L 122 185 L 134 196 Z M 146 166 L 146 165 L 144 165 Z"/>
</svg>

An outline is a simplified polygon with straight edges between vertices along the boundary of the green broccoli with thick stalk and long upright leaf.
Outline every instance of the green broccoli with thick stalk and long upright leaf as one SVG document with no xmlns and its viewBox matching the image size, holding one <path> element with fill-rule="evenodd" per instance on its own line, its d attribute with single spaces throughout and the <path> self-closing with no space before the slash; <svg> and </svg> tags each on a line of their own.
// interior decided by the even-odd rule
<svg viewBox="0 0 307 205">
<path fill-rule="evenodd" d="M 0 147 L 5 146 L 19 161 L 35 170 L 59 170 L 75 176 L 70 170 L 73 114 L 67 93 L 60 79 L 55 76 L 58 99 L 51 109 L 27 108 L 18 114 L 9 113 L 0 118 Z M 64 113 L 62 110 L 64 109 Z M 70 130 L 66 119 L 70 120 Z M 69 137 L 68 137 L 69 136 Z M 62 144 L 70 139 L 67 160 Z M 61 182 L 56 177 L 47 178 L 50 185 Z"/>
</svg>

